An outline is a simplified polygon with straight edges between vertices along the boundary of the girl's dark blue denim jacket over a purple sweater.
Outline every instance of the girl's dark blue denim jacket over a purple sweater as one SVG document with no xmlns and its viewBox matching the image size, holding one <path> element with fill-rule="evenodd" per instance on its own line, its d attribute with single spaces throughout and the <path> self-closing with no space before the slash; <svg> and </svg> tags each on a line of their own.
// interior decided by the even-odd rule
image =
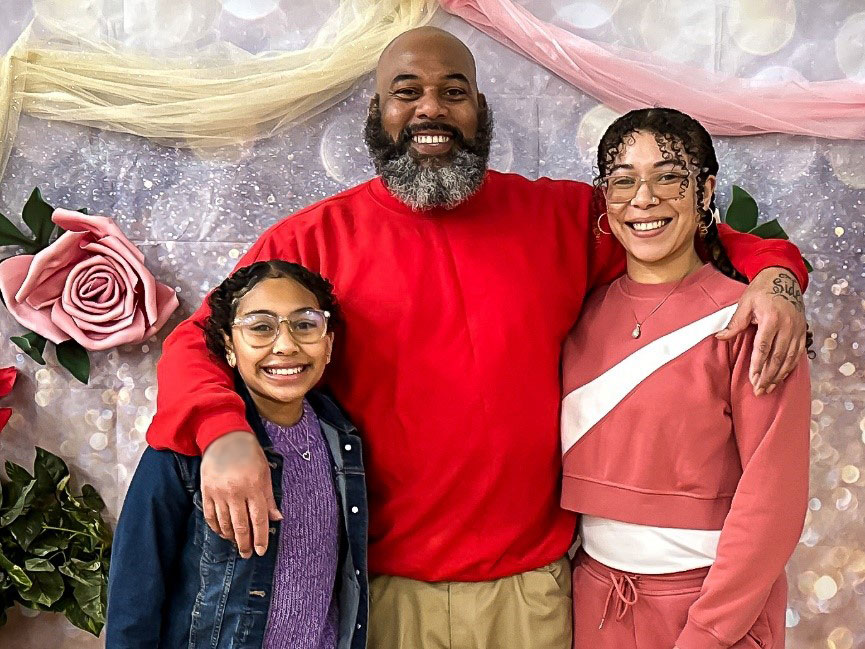
<svg viewBox="0 0 865 649">
<path fill-rule="evenodd" d="M 282 500 L 282 456 L 271 445 L 245 386 L 249 420 Z M 307 395 L 333 460 L 340 504 L 338 649 L 366 646 L 367 505 L 360 439 L 339 408 Z M 276 565 L 279 522 L 263 557 L 242 559 L 204 520 L 200 457 L 147 448 L 114 534 L 106 649 L 259 649 Z"/>
</svg>

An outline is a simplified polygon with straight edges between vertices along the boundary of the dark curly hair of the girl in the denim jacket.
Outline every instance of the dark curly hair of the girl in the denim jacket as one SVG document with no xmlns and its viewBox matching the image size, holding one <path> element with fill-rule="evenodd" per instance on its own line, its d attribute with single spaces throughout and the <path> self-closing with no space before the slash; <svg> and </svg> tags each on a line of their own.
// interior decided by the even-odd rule
<svg viewBox="0 0 865 649">
<path fill-rule="evenodd" d="M 211 353 L 218 358 L 225 358 L 225 337 L 231 337 L 231 323 L 237 315 L 240 298 L 260 281 L 279 277 L 293 279 L 315 295 L 319 307 L 330 312 L 327 329 L 333 331 L 340 322 L 340 310 L 333 294 L 333 285 L 329 281 L 290 261 L 258 261 L 233 272 L 207 297 L 210 315 L 204 322 L 203 329 L 204 340 Z"/>
</svg>

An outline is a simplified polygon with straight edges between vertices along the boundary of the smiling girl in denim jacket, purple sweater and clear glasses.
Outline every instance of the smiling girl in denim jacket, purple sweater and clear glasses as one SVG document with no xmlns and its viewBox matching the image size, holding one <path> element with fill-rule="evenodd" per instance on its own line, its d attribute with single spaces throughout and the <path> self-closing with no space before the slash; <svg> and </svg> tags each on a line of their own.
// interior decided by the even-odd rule
<svg viewBox="0 0 865 649">
<path fill-rule="evenodd" d="M 366 644 L 366 492 L 357 431 L 312 391 L 337 305 L 284 261 L 236 271 L 208 298 L 208 348 L 235 368 L 271 467 L 281 522 L 242 558 L 204 520 L 201 458 L 148 448 L 117 525 L 111 649 L 360 649 Z M 225 512 L 217 512 L 220 518 Z"/>
</svg>

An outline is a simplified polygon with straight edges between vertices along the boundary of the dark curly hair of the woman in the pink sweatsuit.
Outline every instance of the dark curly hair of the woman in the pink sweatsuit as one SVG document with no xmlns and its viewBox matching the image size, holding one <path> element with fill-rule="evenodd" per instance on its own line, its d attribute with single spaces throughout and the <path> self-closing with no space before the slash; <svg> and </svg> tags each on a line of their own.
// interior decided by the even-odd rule
<svg viewBox="0 0 865 649">
<path fill-rule="evenodd" d="M 721 243 L 718 234 L 718 224 L 715 221 L 715 195 L 709 197 L 707 208 L 703 207 L 706 179 L 718 175 L 718 158 L 712 137 L 700 122 L 690 115 L 673 108 L 641 108 L 625 113 L 613 122 L 601 138 L 598 145 L 598 175 L 595 177 L 595 187 L 599 188 L 616 162 L 616 158 L 626 146 L 635 142 L 637 132 L 651 133 L 658 143 L 664 160 L 669 160 L 682 171 L 690 172 L 682 180 L 682 196 L 688 189 L 691 177 L 695 179 L 697 210 L 701 229 L 705 231 L 700 239 L 705 249 L 706 257 L 715 268 L 727 277 L 747 283 L 748 278 L 733 267 L 727 256 L 727 251 Z M 813 335 L 808 330 L 806 347 L 811 352 Z"/>
</svg>

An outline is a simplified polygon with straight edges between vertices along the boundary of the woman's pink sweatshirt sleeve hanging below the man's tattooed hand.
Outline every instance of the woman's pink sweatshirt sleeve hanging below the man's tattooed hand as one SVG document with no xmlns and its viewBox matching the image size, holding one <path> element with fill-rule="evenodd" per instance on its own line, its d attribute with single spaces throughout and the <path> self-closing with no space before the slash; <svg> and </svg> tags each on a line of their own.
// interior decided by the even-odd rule
<svg viewBox="0 0 865 649">
<path fill-rule="evenodd" d="M 730 346 L 730 407 L 743 471 L 715 563 L 688 612 L 679 649 L 726 649 L 762 612 L 802 533 L 808 503 L 811 384 L 803 356 L 788 380 L 754 396 L 754 329 Z"/>
</svg>

